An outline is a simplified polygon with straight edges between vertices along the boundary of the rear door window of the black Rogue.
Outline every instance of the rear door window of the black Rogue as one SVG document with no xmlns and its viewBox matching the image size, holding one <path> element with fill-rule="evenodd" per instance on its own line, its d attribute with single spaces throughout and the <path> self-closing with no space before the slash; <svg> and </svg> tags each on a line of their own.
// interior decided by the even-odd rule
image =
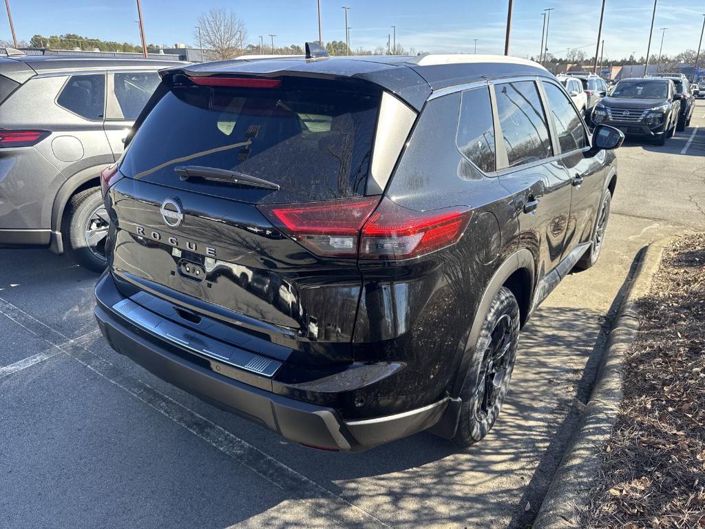
<svg viewBox="0 0 705 529">
<path fill-rule="evenodd" d="M 546 116 L 534 81 L 494 86 L 497 111 L 510 167 L 553 156 Z"/>
</svg>

